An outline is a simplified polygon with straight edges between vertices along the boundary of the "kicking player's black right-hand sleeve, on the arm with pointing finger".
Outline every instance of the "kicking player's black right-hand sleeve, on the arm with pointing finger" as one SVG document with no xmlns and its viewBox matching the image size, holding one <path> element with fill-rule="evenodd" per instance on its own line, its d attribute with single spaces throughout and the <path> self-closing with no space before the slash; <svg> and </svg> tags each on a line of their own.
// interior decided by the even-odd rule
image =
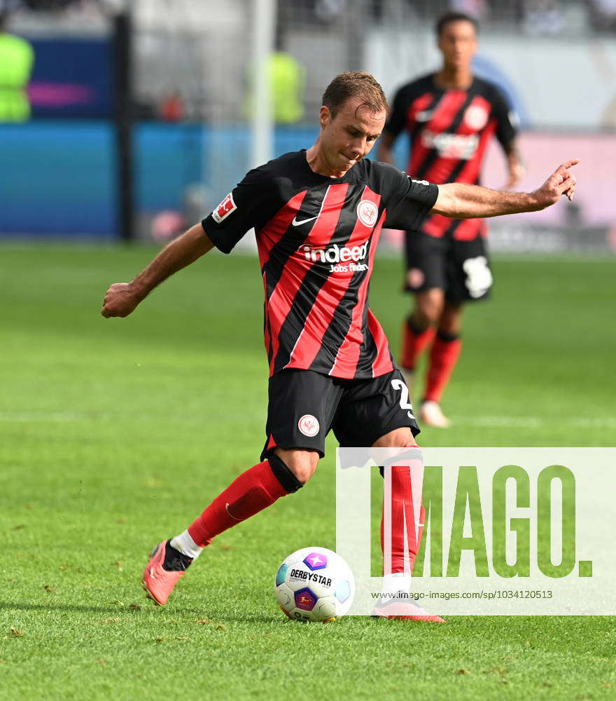
<svg viewBox="0 0 616 701">
<path fill-rule="evenodd" d="M 384 226 L 389 229 L 419 229 L 438 197 L 438 186 L 427 180 L 414 180 L 393 165 L 378 163 L 381 171 L 381 197 L 387 210 Z"/>
</svg>

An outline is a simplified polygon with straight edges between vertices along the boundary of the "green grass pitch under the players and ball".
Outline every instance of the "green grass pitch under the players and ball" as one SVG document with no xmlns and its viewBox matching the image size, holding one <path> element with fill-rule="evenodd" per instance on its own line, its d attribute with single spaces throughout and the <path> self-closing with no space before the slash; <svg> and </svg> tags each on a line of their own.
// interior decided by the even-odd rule
<svg viewBox="0 0 616 701">
<path fill-rule="evenodd" d="M 256 259 L 214 253 L 125 320 L 109 283 L 153 249 L 0 247 L 1 699 L 616 697 L 615 618 L 287 622 L 272 578 L 335 547 L 334 449 L 300 494 L 218 538 L 165 608 L 148 550 L 183 529 L 264 440 Z M 613 261 L 500 259 L 425 445 L 608 446 Z M 381 259 L 372 308 L 398 347 L 408 301 Z"/>
</svg>

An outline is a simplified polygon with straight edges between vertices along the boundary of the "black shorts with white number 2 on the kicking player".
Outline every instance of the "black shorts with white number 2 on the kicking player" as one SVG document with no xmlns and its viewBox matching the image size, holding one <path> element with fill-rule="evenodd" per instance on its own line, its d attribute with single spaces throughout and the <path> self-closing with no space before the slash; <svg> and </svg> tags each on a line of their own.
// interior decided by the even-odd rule
<svg viewBox="0 0 616 701">
<path fill-rule="evenodd" d="M 288 369 L 269 378 L 265 460 L 276 448 L 316 450 L 325 455 L 333 429 L 342 447 L 370 447 L 395 428 L 419 426 L 400 370 L 365 380 Z"/>
</svg>

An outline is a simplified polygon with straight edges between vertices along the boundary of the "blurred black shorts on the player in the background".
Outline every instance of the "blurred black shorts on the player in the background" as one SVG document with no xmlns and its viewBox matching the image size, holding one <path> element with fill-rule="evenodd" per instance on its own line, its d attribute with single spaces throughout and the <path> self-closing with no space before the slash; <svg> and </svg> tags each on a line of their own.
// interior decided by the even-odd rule
<svg viewBox="0 0 616 701">
<path fill-rule="evenodd" d="M 422 231 L 407 231 L 405 250 L 408 292 L 437 287 L 454 304 L 489 297 L 492 271 L 482 236 L 459 241 L 447 234 L 436 238 Z"/>
</svg>

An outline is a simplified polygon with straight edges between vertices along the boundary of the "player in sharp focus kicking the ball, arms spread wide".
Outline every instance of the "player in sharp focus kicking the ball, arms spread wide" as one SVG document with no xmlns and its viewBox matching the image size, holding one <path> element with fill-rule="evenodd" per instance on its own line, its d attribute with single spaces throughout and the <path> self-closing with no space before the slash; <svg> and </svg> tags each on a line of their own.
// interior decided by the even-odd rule
<svg viewBox="0 0 616 701">
<path fill-rule="evenodd" d="M 325 90 L 321 130 L 307 151 L 248 172 L 200 224 L 170 243 L 130 283 L 106 292 L 102 314 L 129 315 L 163 280 L 214 246 L 229 253 L 254 227 L 265 287 L 269 406 L 260 461 L 239 475 L 179 535 L 159 543 L 144 587 L 165 604 L 212 538 L 300 489 L 313 475 L 333 430 L 343 446 L 416 446 L 419 428 L 402 375 L 368 307 L 381 228 L 416 229 L 428 212 L 489 217 L 540 210 L 575 177 L 563 163 L 533 193 L 417 182 L 365 156 L 381 135 L 386 98 L 366 73 L 344 73 Z M 392 470 L 392 510 L 408 499 L 408 474 Z M 386 590 L 406 592 L 404 534 L 391 535 Z M 419 543 L 417 546 L 419 547 Z M 416 549 L 416 548 L 415 548 Z M 403 597 L 377 615 L 440 621 Z"/>
</svg>

